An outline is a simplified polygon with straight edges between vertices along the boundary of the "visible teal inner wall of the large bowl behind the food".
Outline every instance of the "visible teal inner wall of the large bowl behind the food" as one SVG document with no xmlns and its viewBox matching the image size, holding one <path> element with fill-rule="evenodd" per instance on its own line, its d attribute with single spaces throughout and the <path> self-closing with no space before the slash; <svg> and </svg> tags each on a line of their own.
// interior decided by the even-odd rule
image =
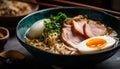
<svg viewBox="0 0 120 69">
<path fill-rule="evenodd" d="M 72 11 L 71 11 L 72 10 Z M 68 17 L 74 17 L 77 15 L 87 15 L 89 19 L 100 21 L 106 26 L 110 26 L 120 37 L 120 20 L 116 19 L 114 16 L 107 14 L 105 12 L 96 11 L 93 9 L 79 8 L 79 7 L 66 7 L 66 8 L 49 8 L 34 12 L 26 17 L 24 17 L 17 26 L 17 36 L 18 38 L 25 42 L 24 36 L 26 31 L 31 27 L 33 23 L 40 19 L 48 18 L 51 14 L 56 15 L 58 12 L 63 12 Z"/>
</svg>

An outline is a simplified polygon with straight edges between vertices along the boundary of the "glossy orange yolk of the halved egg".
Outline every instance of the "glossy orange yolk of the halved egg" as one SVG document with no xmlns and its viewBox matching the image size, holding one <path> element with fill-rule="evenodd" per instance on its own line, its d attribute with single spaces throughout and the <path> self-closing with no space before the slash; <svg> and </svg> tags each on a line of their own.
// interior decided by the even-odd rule
<svg viewBox="0 0 120 69">
<path fill-rule="evenodd" d="M 106 40 L 102 38 L 94 38 L 87 41 L 86 45 L 90 48 L 102 48 L 107 44 Z"/>
</svg>

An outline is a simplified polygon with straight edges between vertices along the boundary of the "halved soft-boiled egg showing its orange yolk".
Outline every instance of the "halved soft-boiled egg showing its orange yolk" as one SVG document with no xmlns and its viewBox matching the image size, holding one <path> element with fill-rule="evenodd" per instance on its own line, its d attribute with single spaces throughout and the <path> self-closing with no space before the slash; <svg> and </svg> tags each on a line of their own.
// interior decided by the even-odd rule
<svg viewBox="0 0 120 69">
<path fill-rule="evenodd" d="M 116 43 L 116 40 L 110 36 L 91 37 L 79 43 L 76 48 L 81 53 L 92 53 L 102 49 L 111 48 Z"/>
</svg>

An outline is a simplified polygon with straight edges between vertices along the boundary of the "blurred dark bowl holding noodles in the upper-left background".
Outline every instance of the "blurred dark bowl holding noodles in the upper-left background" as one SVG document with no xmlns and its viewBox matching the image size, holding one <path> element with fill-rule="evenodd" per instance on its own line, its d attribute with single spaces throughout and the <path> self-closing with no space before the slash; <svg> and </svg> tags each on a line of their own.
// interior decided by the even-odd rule
<svg viewBox="0 0 120 69">
<path fill-rule="evenodd" d="M 0 2 L 1 2 L 2 0 L 0 0 Z M 11 0 L 10 0 L 11 1 Z M 31 8 L 31 11 L 30 12 L 27 12 L 27 13 L 25 13 L 25 14 L 22 14 L 22 15 L 17 15 L 17 16 L 14 16 L 14 15 L 0 15 L 0 26 L 5 26 L 5 27 L 8 27 L 8 28 L 15 28 L 16 27 L 16 25 L 17 25 L 17 23 L 19 22 L 19 20 L 21 20 L 24 16 L 26 16 L 26 15 L 28 15 L 28 14 L 30 14 L 30 13 L 32 13 L 32 12 L 35 12 L 35 11 L 37 11 L 38 9 L 39 9 L 39 5 L 37 5 L 37 4 L 34 4 L 34 3 L 30 3 L 30 2 L 26 2 L 26 1 L 17 1 L 16 0 L 16 2 L 22 2 L 22 3 L 25 3 L 25 4 L 28 4 L 29 6 L 28 7 L 30 7 Z M 1 2 L 1 4 L 2 4 L 3 2 Z M 10 3 L 9 5 L 11 5 L 12 3 Z M 17 3 L 15 3 L 15 4 L 17 4 Z M 5 6 L 5 5 L 2 5 L 2 6 Z M 2 7 L 1 6 L 1 7 Z M 21 5 L 19 5 L 19 6 L 21 6 Z M 7 8 L 11 8 L 11 9 L 13 9 L 14 10 L 14 7 L 12 6 L 12 7 L 7 7 Z M 16 7 L 15 7 L 16 8 Z M 8 10 L 8 9 L 5 9 L 5 11 L 6 10 Z M 1 12 L 2 10 L 0 10 L 0 12 Z M 8 12 L 10 12 L 10 11 L 8 11 Z M 19 11 L 18 11 L 19 12 Z"/>
</svg>

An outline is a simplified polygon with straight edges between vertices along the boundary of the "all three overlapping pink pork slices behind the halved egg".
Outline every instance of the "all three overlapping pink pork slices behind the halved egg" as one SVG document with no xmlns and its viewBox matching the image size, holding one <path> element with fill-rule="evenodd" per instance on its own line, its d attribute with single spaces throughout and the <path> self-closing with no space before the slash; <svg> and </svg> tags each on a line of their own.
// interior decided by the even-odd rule
<svg viewBox="0 0 120 69">
<path fill-rule="evenodd" d="M 92 20 L 71 20 L 69 23 L 63 23 L 62 39 L 63 41 L 76 48 L 75 46 L 86 37 L 105 35 L 106 27 L 102 24 L 98 24 Z"/>
</svg>

